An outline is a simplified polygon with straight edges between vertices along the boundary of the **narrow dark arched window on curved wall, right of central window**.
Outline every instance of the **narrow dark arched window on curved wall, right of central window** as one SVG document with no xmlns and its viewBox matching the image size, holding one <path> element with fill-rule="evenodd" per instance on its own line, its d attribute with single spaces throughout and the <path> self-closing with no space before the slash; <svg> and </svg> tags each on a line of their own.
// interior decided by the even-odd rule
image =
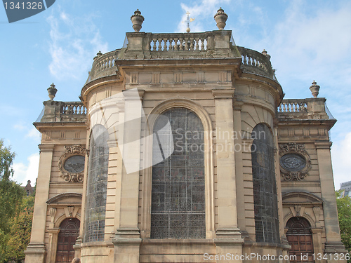
<svg viewBox="0 0 351 263">
<path fill-rule="evenodd" d="M 252 139 L 256 242 L 280 243 L 272 132 L 265 124 L 259 123 L 253 128 Z"/>
</svg>

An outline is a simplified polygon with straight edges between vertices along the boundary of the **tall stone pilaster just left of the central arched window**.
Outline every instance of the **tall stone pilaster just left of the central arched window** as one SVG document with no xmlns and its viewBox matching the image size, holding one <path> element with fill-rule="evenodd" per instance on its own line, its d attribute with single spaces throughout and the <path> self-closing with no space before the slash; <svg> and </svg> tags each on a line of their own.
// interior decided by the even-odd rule
<svg viewBox="0 0 351 263">
<path fill-rule="evenodd" d="M 124 94 L 123 140 L 119 141 L 119 149 L 124 167 L 121 170 L 121 192 L 119 204 L 119 226 L 114 243 L 114 262 L 139 262 L 140 230 L 138 229 L 139 203 L 139 168 L 140 168 L 140 136 L 143 110 L 140 97 Z M 120 119 L 121 120 L 121 119 Z M 121 135 L 121 134 L 119 134 Z M 123 146 L 121 145 L 123 144 Z"/>
</svg>

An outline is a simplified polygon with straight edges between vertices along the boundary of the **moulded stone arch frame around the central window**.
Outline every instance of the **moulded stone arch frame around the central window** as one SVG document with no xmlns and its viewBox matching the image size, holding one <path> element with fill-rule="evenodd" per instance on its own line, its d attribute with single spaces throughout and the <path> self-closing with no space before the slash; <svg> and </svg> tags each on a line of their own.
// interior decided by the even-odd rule
<svg viewBox="0 0 351 263">
<path fill-rule="evenodd" d="M 204 163 L 205 163 L 205 224 L 206 224 L 206 238 L 213 238 L 215 236 L 215 213 L 214 213 L 214 180 L 213 180 L 213 152 L 211 145 L 213 138 L 211 137 L 212 121 L 206 110 L 201 105 L 186 99 L 172 99 L 166 100 L 158 104 L 152 112 L 147 116 L 148 130 L 144 130 L 145 137 L 152 134 L 154 123 L 157 119 L 157 114 L 166 112 L 171 108 L 187 108 L 197 114 L 204 126 Z M 151 163 L 152 158 L 152 140 L 144 145 L 144 159 L 145 163 Z M 151 230 L 151 182 L 152 182 L 152 167 L 146 168 L 143 171 L 142 191 L 140 193 L 141 208 L 140 208 L 140 236 L 141 238 L 150 238 Z"/>
</svg>

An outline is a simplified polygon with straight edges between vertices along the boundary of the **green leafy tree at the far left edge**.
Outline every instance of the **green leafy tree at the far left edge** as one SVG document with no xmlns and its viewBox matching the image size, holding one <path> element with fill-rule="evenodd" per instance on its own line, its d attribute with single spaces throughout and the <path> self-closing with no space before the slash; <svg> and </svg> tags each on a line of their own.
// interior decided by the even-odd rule
<svg viewBox="0 0 351 263">
<path fill-rule="evenodd" d="M 8 241 L 15 217 L 22 208 L 25 190 L 11 180 L 15 153 L 0 140 L 0 262 L 6 262 Z"/>
</svg>

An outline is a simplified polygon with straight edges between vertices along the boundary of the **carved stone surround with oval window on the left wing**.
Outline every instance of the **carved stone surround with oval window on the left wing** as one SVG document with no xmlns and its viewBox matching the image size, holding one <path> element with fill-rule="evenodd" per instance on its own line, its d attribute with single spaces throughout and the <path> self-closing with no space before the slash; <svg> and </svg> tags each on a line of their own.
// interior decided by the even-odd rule
<svg viewBox="0 0 351 263">
<path fill-rule="evenodd" d="M 60 156 L 58 169 L 66 182 L 83 182 L 86 147 L 80 144 L 66 145 Z"/>
</svg>

